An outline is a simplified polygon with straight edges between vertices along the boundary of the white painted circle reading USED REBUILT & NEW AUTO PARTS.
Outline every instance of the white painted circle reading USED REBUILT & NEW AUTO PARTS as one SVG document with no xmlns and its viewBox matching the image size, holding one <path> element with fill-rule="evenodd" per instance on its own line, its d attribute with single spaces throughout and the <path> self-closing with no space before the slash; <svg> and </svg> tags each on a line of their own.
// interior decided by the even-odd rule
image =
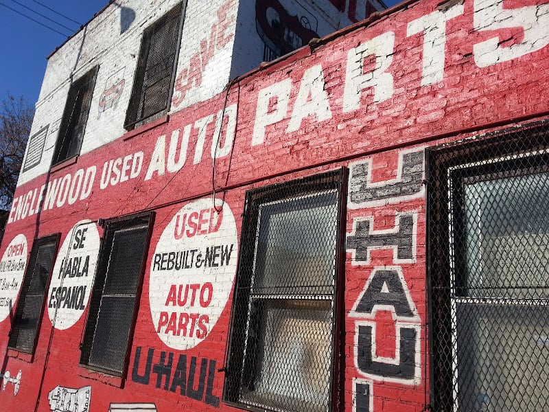
<svg viewBox="0 0 549 412">
<path fill-rule="evenodd" d="M 220 200 L 188 203 L 156 245 L 149 302 L 154 329 L 169 347 L 187 350 L 207 338 L 235 280 L 237 231 Z"/>
</svg>

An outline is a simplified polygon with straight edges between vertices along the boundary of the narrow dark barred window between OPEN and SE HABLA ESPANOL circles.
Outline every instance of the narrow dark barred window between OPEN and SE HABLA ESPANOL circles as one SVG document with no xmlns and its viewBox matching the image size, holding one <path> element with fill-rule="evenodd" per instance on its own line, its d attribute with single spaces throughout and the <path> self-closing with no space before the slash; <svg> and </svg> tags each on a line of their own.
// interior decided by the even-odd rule
<svg viewBox="0 0 549 412">
<path fill-rule="evenodd" d="M 44 316 L 45 310 L 45 301 L 47 291 L 49 290 L 49 282 L 51 281 L 51 273 L 54 271 L 54 265 L 56 262 L 58 247 L 59 247 L 60 233 L 54 233 L 49 236 L 44 236 L 42 238 L 34 239 L 32 243 L 32 250 L 29 255 L 29 261 L 27 263 L 27 268 L 25 268 L 25 276 L 23 277 L 23 284 L 21 285 L 21 292 L 19 293 L 19 301 L 15 308 L 14 318 L 12 322 L 12 327 L 10 330 L 10 337 L 8 340 L 8 347 L 12 350 L 18 352 L 23 352 L 26 354 L 34 355 L 36 351 L 36 345 L 38 343 L 38 336 L 40 332 L 40 326 L 42 325 L 42 319 Z M 51 248 L 51 260 L 49 262 L 49 268 L 45 274 L 45 278 L 42 279 L 40 286 L 40 291 L 34 290 L 34 293 L 31 291 L 32 288 L 36 288 L 36 282 L 40 279 L 36 279 L 37 275 L 36 269 L 41 264 L 39 259 L 40 250 L 44 247 Z M 41 298 L 40 298 L 41 296 Z M 36 316 L 36 323 L 31 325 L 32 328 L 29 328 L 29 318 L 28 312 L 29 306 L 27 302 L 30 302 L 30 297 L 35 297 L 41 299 L 40 304 L 38 305 L 38 314 Z M 30 308 L 32 310 L 32 308 Z M 36 308 L 34 308 L 36 310 Z M 34 329 L 32 336 L 30 336 L 30 342 L 22 341 L 24 337 L 21 336 L 21 331 Z"/>
</svg>

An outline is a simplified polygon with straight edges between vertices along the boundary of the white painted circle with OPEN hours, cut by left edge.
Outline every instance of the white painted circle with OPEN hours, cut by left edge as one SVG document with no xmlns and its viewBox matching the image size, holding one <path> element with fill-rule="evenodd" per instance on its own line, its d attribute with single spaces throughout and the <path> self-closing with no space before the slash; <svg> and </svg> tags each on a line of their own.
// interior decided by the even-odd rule
<svg viewBox="0 0 549 412">
<path fill-rule="evenodd" d="M 21 289 L 27 265 L 27 238 L 19 234 L 13 238 L 0 260 L 0 322 L 12 311 Z"/>
</svg>

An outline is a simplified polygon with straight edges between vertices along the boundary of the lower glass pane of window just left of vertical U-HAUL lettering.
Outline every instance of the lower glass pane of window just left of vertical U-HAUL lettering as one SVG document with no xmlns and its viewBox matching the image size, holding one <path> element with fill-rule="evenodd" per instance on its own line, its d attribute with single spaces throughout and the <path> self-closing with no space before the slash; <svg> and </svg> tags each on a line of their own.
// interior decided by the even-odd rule
<svg viewBox="0 0 549 412">
<path fill-rule="evenodd" d="M 253 306 L 260 313 L 261 339 L 253 354 L 253 391 L 244 390 L 242 400 L 290 411 L 326 411 L 331 302 L 267 300 Z"/>
</svg>

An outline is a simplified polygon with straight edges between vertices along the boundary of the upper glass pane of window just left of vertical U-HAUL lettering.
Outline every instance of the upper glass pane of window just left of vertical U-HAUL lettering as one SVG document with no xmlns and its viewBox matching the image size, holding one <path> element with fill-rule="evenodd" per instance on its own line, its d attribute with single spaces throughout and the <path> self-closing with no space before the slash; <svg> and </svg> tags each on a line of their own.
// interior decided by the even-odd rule
<svg viewBox="0 0 549 412">
<path fill-rule="evenodd" d="M 331 294 L 337 192 L 261 205 L 255 294 Z"/>
</svg>

